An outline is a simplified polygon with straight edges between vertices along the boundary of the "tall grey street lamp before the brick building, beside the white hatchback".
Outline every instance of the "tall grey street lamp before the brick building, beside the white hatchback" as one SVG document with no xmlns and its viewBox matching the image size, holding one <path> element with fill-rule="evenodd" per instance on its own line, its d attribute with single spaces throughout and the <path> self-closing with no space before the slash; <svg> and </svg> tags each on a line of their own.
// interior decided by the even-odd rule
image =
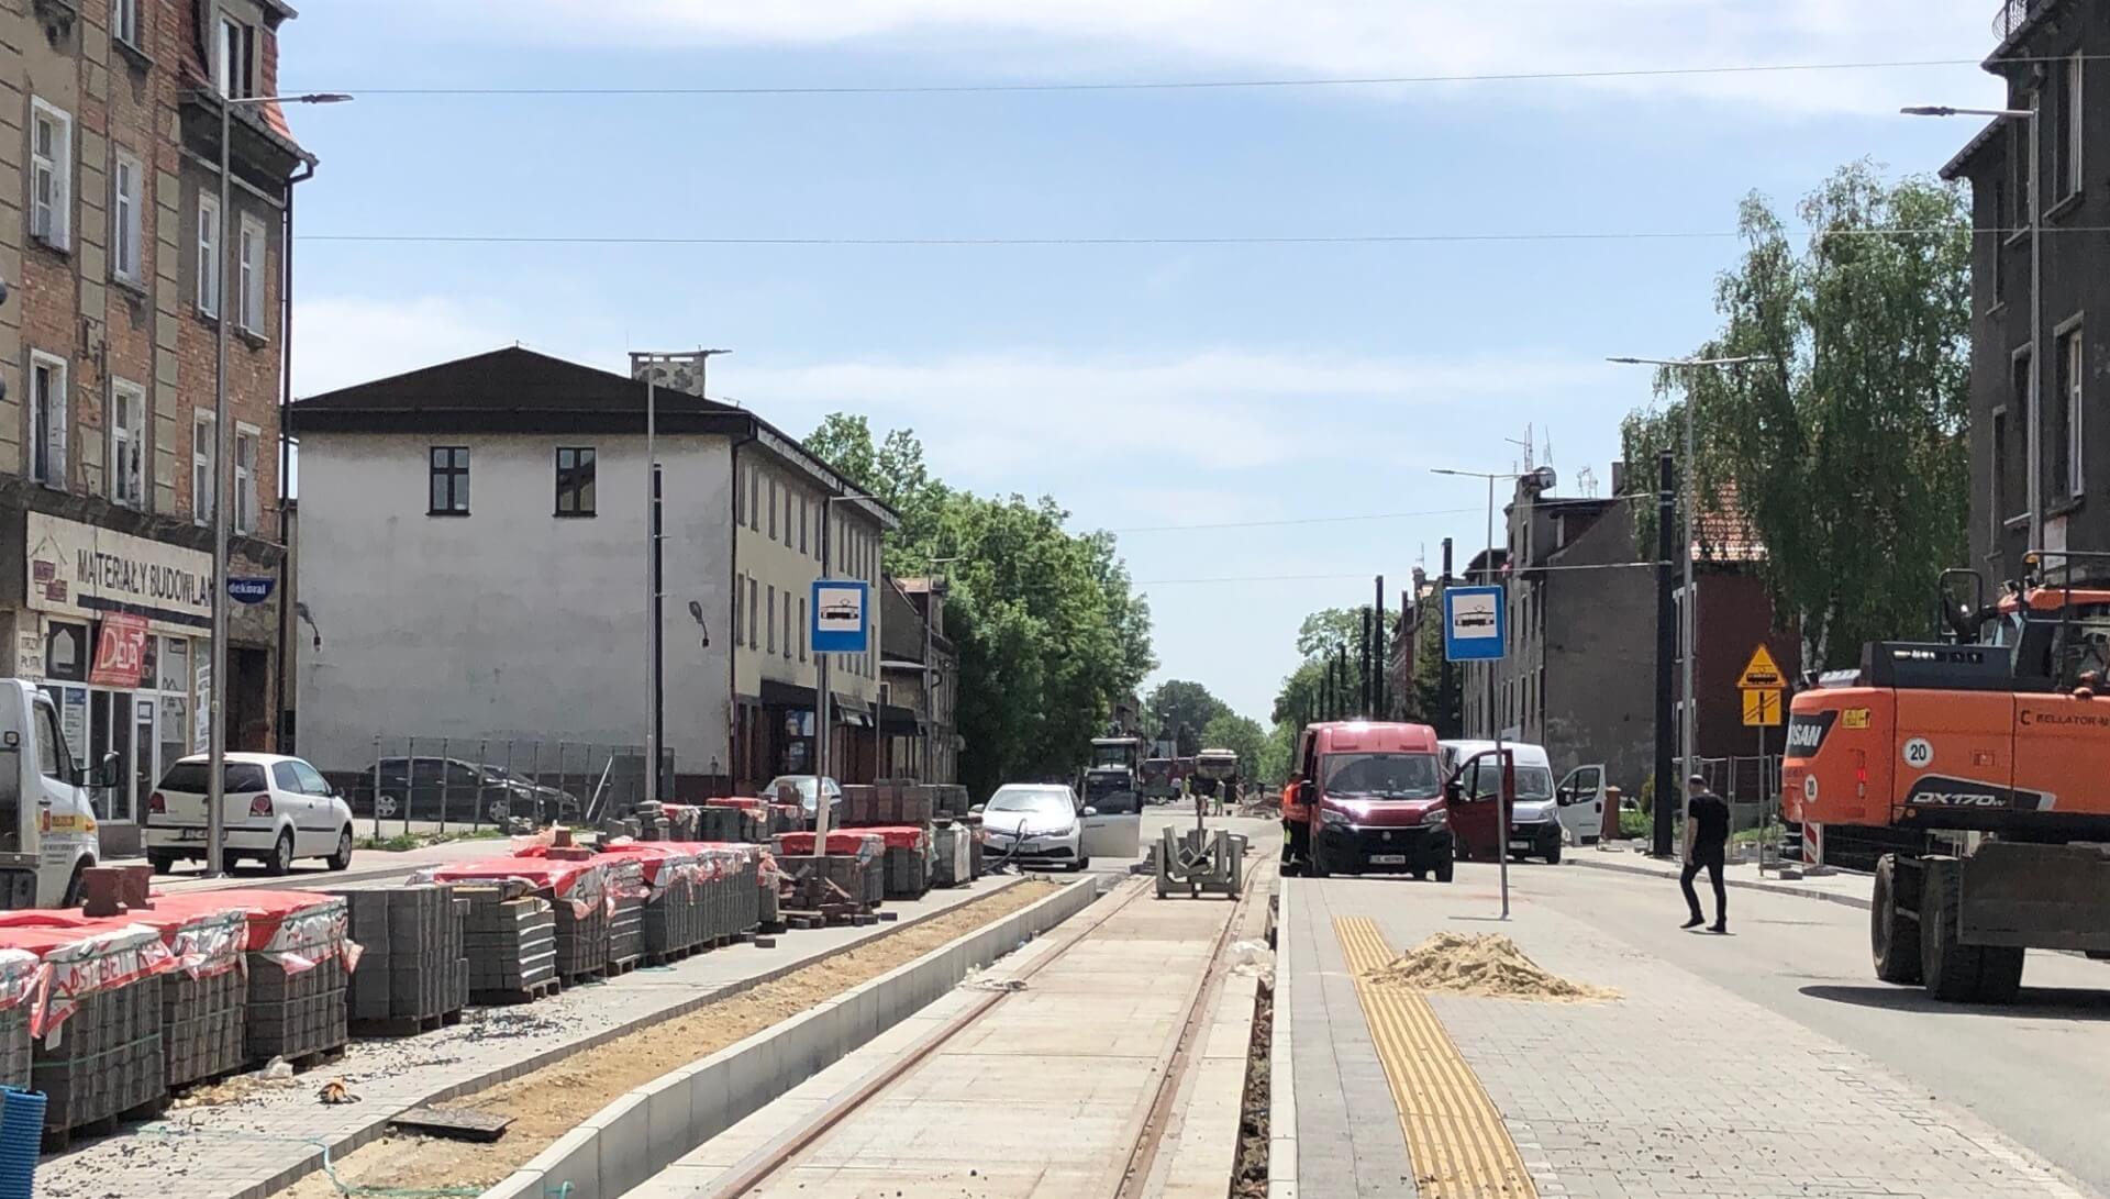
<svg viewBox="0 0 2110 1199">
<path fill-rule="evenodd" d="M 219 878 L 222 868 L 222 846 L 228 842 L 226 827 L 226 760 L 228 760 L 228 732 L 222 724 L 226 718 L 226 697 L 228 697 L 228 471 L 232 469 L 230 458 L 234 458 L 234 426 L 228 422 L 228 331 L 234 323 L 234 312 L 228 312 L 228 281 L 236 279 L 241 272 L 241 260 L 236 258 L 241 234 L 228 236 L 228 217 L 234 211 L 234 188 L 232 188 L 232 139 L 234 139 L 234 110 L 255 108 L 260 103 L 344 103 L 352 97 L 338 91 L 312 91 L 304 95 L 219 95 L 219 93 L 198 93 L 209 99 L 219 101 L 219 281 L 213 287 L 215 312 L 215 355 L 217 363 L 213 367 L 213 646 L 211 646 L 211 673 L 205 680 L 207 705 L 211 711 L 211 741 L 205 747 L 207 754 L 207 781 L 205 781 L 205 876 Z M 236 304 L 241 302 L 241 287 L 236 285 Z M 285 431 L 279 431 L 285 437 Z M 198 498 L 190 498 L 196 507 Z M 283 600 L 281 600 L 283 602 Z M 283 646 L 281 646 L 283 648 Z M 285 697 L 279 697 L 281 707 Z"/>
</svg>

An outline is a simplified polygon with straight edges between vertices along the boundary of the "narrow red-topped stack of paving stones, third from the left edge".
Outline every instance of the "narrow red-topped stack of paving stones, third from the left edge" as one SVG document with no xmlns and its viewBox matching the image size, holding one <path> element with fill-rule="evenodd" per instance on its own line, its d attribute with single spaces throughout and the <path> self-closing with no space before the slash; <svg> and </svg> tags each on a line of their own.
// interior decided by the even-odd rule
<svg viewBox="0 0 2110 1199">
<path fill-rule="evenodd" d="M 160 1047 L 169 1089 L 241 1070 L 249 1060 L 249 979 L 243 944 L 249 933 L 241 908 L 194 916 L 154 918 L 175 969 L 160 975 Z"/>
</svg>

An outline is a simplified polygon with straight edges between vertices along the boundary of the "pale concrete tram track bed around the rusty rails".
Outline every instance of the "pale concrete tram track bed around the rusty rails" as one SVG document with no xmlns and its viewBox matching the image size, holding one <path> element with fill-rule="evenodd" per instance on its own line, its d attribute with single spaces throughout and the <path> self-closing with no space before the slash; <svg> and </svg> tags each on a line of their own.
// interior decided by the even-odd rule
<svg viewBox="0 0 2110 1199">
<path fill-rule="evenodd" d="M 1268 842 L 1262 846 L 1272 849 Z M 990 988 L 1047 958 L 981 1020 L 952 1034 L 888 1089 L 812 1140 L 749 1191 L 757 1199 L 1101 1199 L 1114 1193 L 1152 1110 L 1194 996 L 1201 994 L 1224 922 L 1264 935 L 1272 857 L 1249 870 L 1262 891 L 1243 910 L 1224 899 L 1156 899 L 1137 878 L 1101 899 L 1120 903 L 1061 950 L 1051 937 L 1004 958 L 939 998 L 863 1051 L 814 1074 L 768 1108 L 665 1169 L 631 1199 L 713 1193 L 738 1169 L 838 1110 Z M 1133 899 L 1131 899 L 1133 895 Z M 1091 920 L 1093 912 L 1080 916 Z M 1236 944 L 1236 937 L 1232 939 Z M 1232 954 L 1226 954 L 1232 956 Z M 1207 1022 L 1192 1041 L 1156 1163 L 1142 1195 L 1222 1197 L 1236 1155 L 1253 988 L 1264 971 L 1241 971 L 1209 992 Z"/>
</svg>

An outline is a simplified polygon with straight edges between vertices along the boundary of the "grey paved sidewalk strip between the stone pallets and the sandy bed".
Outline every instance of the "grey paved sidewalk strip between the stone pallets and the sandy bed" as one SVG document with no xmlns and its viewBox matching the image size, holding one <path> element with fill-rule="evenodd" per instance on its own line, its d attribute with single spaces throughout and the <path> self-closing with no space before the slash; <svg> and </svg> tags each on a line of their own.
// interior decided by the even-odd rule
<svg viewBox="0 0 2110 1199">
<path fill-rule="evenodd" d="M 483 842 L 483 851 L 490 849 Z M 300 1074 L 289 1087 L 253 1089 L 217 1106 L 175 1108 L 167 1119 L 46 1159 L 38 1167 L 36 1193 L 49 1199 L 257 1199 L 319 1169 L 325 1146 L 348 1153 L 380 1136 L 386 1121 L 405 1108 L 519 1077 L 633 1026 L 682 1015 L 1013 882 L 1019 878 L 981 878 L 971 887 L 931 891 L 920 901 L 893 901 L 888 910 L 901 914 L 899 922 L 798 931 L 779 937 L 774 950 L 736 944 L 673 967 L 644 967 L 606 984 L 565 988 L 540 1003 L 471 1007 L 460 1024 L 418 1036 L 352 1039 L 342 1062 Z M 314 1089 L 325 1079 L 342 1079 L 361 1102 L 319 1104 Z"/>
</svg>

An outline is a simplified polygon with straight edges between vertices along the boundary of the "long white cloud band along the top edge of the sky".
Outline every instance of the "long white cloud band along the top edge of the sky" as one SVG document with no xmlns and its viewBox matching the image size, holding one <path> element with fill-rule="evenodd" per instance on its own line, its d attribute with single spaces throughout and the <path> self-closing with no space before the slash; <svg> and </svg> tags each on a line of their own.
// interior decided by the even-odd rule
<svg viewBox="0 0 2110 1199">
<path fill-rule="evenodd" d="M 1454 76 L 1743 63 L 1971 59 L 1992 49 L 1990 0 L 456 0 L 487 36 L 663 46 L 975 51 L 1015 78 L 1137 70 Z M 1025 40 L 1025 44 L 1021 44 Z M 1956 72 L 1969 78 L 1975 72 Z M 580 80 L 591 82 L 591 80 Z M 618 82 L 618 80 L 599 80 Z M 625 80 L 627 82 L 627 80 Z M 795 82 L 795 80 L 793 80 Z M 1711 74 L 1580 87 L 1798 112 L 1882 112 L 1926 72 Z M 1479 97 L 1481 91 L 1471 91 Z M 1551 93 L 1570 95 L 1570 89 Z"/>
</svg>

